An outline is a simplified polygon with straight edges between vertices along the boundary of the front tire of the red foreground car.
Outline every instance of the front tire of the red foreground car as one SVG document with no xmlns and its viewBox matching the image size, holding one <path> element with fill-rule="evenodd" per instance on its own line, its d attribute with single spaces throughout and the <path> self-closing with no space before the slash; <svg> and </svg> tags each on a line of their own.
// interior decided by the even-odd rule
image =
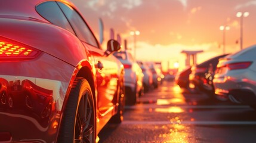
<svg viewBox="0 0 256 143">
<path fill-rule="evenodd" d="M 119 101 L 118 101 L 118 113 L 116 113 L 111 119 L 111 123 L 121 123 L 124 120 L 124 110 L 125 110 L 125 86 L 124 79 L 119 83 Z"/>
</svg>

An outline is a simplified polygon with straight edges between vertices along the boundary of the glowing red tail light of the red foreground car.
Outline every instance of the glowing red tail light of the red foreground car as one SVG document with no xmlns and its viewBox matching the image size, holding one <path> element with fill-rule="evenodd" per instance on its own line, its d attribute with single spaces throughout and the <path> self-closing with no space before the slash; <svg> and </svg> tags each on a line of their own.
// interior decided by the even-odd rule
<svg viewBox="0 0 256 143">
<path fill-rule="evenodd" d="M 37 57 L 39 51 L 22 43 L 0 37 L 0 60 L 28 60 Z"/>
</svg>

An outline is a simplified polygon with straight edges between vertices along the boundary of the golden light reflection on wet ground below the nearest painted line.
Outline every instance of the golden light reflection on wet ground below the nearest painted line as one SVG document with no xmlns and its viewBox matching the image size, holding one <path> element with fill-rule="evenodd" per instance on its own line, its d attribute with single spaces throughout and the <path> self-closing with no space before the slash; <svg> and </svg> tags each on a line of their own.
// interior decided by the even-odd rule
<svg viewBox="0 0 256 143">
<path fill-rule="evenodd" d="M 104 142 L 197 142 L 193 129 L 179 124 L 108 126 L 115 132 L 109 133 L 110 136 Z"/>
</svg>

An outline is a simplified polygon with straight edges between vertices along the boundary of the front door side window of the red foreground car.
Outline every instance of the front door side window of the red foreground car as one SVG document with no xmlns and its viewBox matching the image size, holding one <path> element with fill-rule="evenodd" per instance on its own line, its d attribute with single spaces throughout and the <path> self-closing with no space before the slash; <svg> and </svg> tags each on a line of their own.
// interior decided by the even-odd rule
<svg viewBox="0 0 256 143">
<path fill-rule="evenodd" d="M 82 17 L 72 7 L 61 2 L 57 3 L 66 15 L 78 38 L 92 46 L 99 47 L 94 35 Z"/>
</svg>

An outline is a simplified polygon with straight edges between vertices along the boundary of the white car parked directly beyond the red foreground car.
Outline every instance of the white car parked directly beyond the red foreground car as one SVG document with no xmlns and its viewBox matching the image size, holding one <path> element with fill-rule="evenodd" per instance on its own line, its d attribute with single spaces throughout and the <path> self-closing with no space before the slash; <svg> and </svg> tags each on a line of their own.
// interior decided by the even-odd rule
<svg viewBox="0 0 256 143">
<path fill-rule="evenodd" d="M 144 94 L 143 72 L 128 51 L 114 52 L 113 55 L 121 61 L 125 68 L 126 104 L 134 105 L 138 101 L 138 97 Z"/>
</svg>

